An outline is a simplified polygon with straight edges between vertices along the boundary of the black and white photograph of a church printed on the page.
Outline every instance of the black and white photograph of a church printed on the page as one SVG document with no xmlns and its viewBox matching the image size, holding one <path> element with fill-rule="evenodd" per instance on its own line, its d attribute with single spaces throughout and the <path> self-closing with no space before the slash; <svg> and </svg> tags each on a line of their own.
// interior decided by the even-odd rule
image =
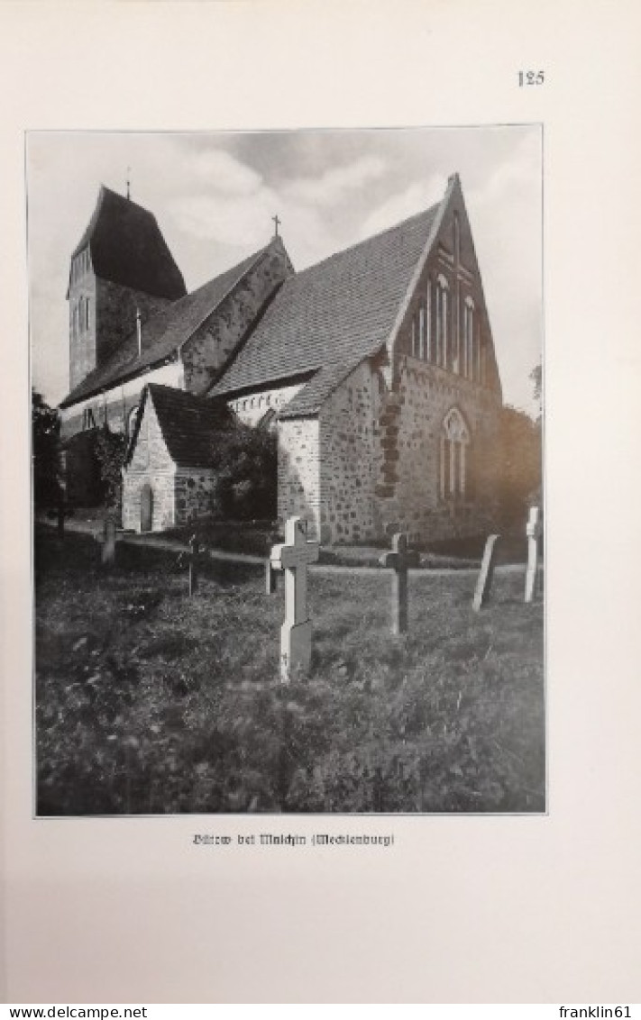
<svg viewBox="0 0 641 1020">
<path fill-rule="evenodd" d="M 545 814 L 543 129 L 26 136 L 34 814 Z"/>
</svg>

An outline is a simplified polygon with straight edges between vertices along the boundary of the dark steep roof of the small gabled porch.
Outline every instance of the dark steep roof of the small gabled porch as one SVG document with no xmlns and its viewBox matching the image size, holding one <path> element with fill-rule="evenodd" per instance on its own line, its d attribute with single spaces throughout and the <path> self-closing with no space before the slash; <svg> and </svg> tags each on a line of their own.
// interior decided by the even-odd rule
<svg viewBox="0 0 641 1020">
<path fill-rule="evenodd" d="M 236 423 L 232 411 L 223 401 L 196 397 L 156 382 L 148 382 L 142 393 L 127 448 L 126 466 L 132 459 L 148 400 L 153 404 L 162 438 L 175 463 L 184 467 L 215 466 L 220 443 Z"/>
</svg>

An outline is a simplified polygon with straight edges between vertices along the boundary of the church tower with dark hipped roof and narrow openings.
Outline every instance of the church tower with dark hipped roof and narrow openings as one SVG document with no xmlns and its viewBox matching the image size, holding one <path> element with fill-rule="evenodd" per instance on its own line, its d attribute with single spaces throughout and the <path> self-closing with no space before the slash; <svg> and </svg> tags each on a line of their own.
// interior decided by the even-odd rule
<svg viewBox="0 0 641 1020">
<path fill-rule="evenodd" d="M 145 322 L 186 293 L 155 216 L 102 186 L 71 255 L 69 389 L 100 368 L 136 330 L 138 315 Z"/>
</svg>

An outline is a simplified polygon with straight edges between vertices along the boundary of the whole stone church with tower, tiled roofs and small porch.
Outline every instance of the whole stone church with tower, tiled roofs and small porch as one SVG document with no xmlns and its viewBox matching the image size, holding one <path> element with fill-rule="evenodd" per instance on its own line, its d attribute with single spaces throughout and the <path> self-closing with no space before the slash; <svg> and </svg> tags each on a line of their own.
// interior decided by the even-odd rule
<svg viewBox="0 0 641 1020">
<path fill-rule="evenodd" d="M 277 434 L 280 521 L 324 544 L 486 529 L 501 385 L 457 174 L 301 272 L 277 235 L 192 294 L 154 216 L 102 188 L 67 299 L 67 484 L 87 431 L 125 431 L 124 527 L 215 515 L 241 421 Z"/>
</svg>

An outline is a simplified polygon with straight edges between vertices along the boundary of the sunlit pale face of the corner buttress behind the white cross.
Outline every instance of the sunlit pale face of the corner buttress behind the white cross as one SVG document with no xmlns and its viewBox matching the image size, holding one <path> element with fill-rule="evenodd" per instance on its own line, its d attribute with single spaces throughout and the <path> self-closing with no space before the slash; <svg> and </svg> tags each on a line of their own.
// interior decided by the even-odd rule
<svg viewBox="0 0 641 1020">
<path fill-rule="evenodd" d="M 320 536 L 319 430 L 317 418 L 279 421 L 279 495 L 281 526 L 288 517 L 307 521 L 309 539 Z"/>
</svg>

